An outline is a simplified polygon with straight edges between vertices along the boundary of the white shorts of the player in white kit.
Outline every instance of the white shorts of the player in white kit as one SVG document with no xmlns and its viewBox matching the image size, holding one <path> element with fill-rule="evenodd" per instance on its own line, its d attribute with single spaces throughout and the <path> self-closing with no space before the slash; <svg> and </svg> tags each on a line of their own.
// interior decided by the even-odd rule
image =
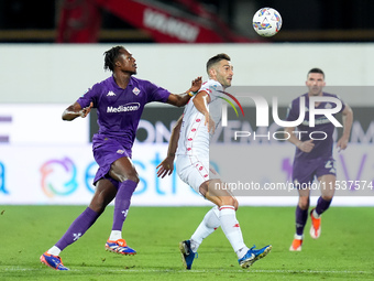
<svg viewBox="0 0 374 281">
<path fill-rule="evenodd" d="M 208 158 L 178 155 L 175 163 L 180 180 L 199 194 L 199 187 L 204 182 L 220 179 L 219 174 L 210 167 Z"/>
</svg>

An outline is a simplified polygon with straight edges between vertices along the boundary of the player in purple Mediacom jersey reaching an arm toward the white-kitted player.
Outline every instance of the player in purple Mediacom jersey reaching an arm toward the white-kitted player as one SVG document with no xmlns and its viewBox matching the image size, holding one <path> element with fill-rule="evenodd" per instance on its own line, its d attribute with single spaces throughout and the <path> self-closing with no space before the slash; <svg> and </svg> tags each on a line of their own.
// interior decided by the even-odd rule
<svg viewBox="0 0 374 281">
<path fill-rule="evenodd" d="M 96 192 L 89 206 L 64 236 L 41 256 L 44 264 L 56 270 L 68 270 L 59 258 L 61 251 L 80 238 L 114 198 L 112 231 L 106 249 L 121 255 L 136 253 L 122 238 L 122 226 L 139 183 L 131 150 L 142 111 L 145 104 L 152 101 L 185 106 L 201 86 L 201 77 L 198 77 L 187 93 L 175 95 L 151 82 L 132 77 L 136 74 L 135 58 L 123 46 L 105 52 L 105 69 L 110 69 L 112 76 L 95 84 L 63 112 L 63 119 L 70 121 L 77 117 L 85 118 L 91 108 L 97 108 L 100 129 L 94 136 L 92 150 L 99 169 L 94 180 Z"/>
</svg>

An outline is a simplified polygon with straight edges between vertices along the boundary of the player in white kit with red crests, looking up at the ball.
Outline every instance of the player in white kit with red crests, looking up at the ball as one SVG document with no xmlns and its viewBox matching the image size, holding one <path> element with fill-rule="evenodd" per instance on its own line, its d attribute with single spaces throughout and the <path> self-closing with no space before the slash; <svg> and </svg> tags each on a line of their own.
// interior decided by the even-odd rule
<svg viewBox="0 0 374 281">
<path fill-rule="evenodd" d="M 191 269 L 195 253 L 202 239 L 221 227 L 238 255 L 242 268 L 249 268 L 265 257 L 272 249 L 268 245 L 261 249 L 249 249 L 237 220 L 238 201 L 226 188 L 217 172 L 209 166 L 209 141 L 221 121 L 221 102 L 224 90 L 231 86 L 233 67 L 227 54 L 218 54 L 207 63 L 209 80 L 194 96 L 184 115 L 172 131 L 167 158 L 157 166 L 157 175 L 169 175 L 174 169 L 175 154 L 178 155 L 176 170 L 179 177 L 205 198 L 217 206 L 204 217 L 189 240 L 179 242 L 184 266 Z M 224 188 L 221 188 L 221 187 Z"/>
</svg>

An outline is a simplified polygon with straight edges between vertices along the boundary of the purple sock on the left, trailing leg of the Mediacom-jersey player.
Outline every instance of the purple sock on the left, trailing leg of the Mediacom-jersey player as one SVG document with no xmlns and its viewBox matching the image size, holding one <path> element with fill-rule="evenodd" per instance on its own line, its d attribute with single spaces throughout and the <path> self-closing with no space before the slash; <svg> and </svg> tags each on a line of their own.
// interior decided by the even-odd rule
<svg viewBox="0 0 374 281">
<path fill-rule="evenodd" d="M 78 240 L 88 228 L 94 225 L 100 215 L 87 207 L 70 225 L 64 236 L 56 242 L 56 247 L 64 250 L 67 246 Z"/>
</svg>

